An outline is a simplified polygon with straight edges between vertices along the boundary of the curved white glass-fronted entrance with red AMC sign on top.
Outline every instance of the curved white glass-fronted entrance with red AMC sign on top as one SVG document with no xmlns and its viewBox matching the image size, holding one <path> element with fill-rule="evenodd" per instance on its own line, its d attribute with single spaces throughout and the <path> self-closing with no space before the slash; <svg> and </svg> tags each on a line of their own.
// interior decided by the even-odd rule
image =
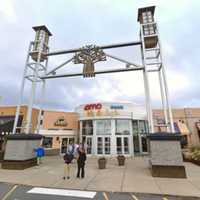
<svg viewBox="0 0 200 200">
<path fill-rule="evenodd" d="M 87 154 L 132 156 L 147 153 L 147 120 L 141 107 L 124 103 L 101 103 L 98 106 L 101 109 L 98 110 L 88 111 L 84 108 L 95 109 L 95 106 L 87 104 L 77 109 L 79 138 Z"/>
</svg>

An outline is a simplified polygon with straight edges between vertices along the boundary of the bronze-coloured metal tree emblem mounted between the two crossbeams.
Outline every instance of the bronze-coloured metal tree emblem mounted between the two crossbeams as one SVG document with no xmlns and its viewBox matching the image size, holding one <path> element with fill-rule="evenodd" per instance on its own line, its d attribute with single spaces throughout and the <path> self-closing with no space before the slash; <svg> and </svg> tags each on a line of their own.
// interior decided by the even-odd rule
<svg viewBox="0 0 200 200">
<path fill-rule="evenodd" d="M 106 55 L 102 49 L 95 45 L 87 45 L 80 49 L 74 56 L 74 64 L 84 64 L 83 77 L 94 77 L 94 64 L 99 61 L 106 61 Z"/>
</svg>

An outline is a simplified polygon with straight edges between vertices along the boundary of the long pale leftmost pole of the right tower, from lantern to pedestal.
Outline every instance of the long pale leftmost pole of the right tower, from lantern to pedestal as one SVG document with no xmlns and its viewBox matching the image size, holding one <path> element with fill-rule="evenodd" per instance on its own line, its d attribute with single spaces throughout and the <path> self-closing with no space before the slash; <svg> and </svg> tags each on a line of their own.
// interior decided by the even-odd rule
<svg viewBox="0 0 200 200">
<path fill-rule="evenodd" d="M 151 133 L 154 133 L 154 125 L 153 125 L 153 115 L 152 115 L 152 106 L 151 106 L 151 96 L 149 90 L 149 80 L 148 80 L 148 72 L 146 66 L 146 55 L 145 55 L 145 45 L 144 45 L 144 36 L 143 36 L 143 25 L 140 25 L 140 37 L 142 41 L 141 53 L 142 53 L 142 62 L 144 65 L 143 76 L 144 76 L 144 88 L 145 88 L 145 97 L 146 97 L 146 108 L 147 108 L 147 116 L 149 121 L 149 130 Z"/>
</svg>

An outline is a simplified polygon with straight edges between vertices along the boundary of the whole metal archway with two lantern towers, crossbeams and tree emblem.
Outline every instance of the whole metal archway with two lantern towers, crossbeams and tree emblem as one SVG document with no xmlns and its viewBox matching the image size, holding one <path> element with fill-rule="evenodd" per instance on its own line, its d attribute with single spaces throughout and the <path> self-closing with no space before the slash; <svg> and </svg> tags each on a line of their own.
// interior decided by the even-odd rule
<svg viewBox="0 0 200 200">
<path fill-rule="evenodd" d="M 168 132 L 174 133 L 174 125 L 172 119 L 171 106 L 169 103 L 168 86 L 166 79 L 165 67 L 162 60 L 161 43 L 159 39 L 158 25 L 154 20 L 155 6 L 145 7 L 138 9 L 138 22 L 140 23 L 140 39 L 135 42 L 111 44 L 104 46 L 88 45 L 82 48 L 61 50 L 61 51 L 49 51 L 48 41 L 52 35 L 46 26 L 36 26 L 33 29 L 36 31 L 35 40 L 30 42 L 27 59 L 25 63 L 24 74 L 22 78 L 20 99 L 16 110 L 15 122 L 13 127 L 13 134 L 16 133 L 17 122 L 20 113 L 20 106 L 23 100 L 25 80 L 32 82 L 31 96 L 28 105 L 28 114 L 26 118 L 25 133 L 29 133 L 31 125 L 32 107 L 33 100 L 36 92 L 36 84 L 42 84 L 42 95 L 40 103 L 44 99 L 45 93 L 45 82 L 47 79 L 61 78 L 61 77 L 94 77 L 97 74 L 104 73 L 116 73 L 116 72 L 127 72 L 127 71 L 143 71 L 144 77 L 144 88 L 146 97 L 146 110 L 148 117 L 148 124 L 150 132 L 154 132 L 154 122 L 152 115 L 152 105 L 150 97 L 150 88 L 148 75 L 151 72 L 157 72 L 159 77 L 160 92 L 162 99 L 162 108 L 164 110 L 165 126 Z M 127 46 L 140 46 L 142 65 L 129 62 L 125 59 L 107 54 L 104 52 L 110 48 L 122 48 Z M 73 56 L 56 66 L 55 68 L 47 71 L 48 59 L 51 56 L 62 55 L 62 54 L 73 54 Z M 111 70 L 95 70 L 95 63 L 105 61 L 107 57 L 115 59 L 125 64 L 125 67 Z M 74 64 L 83 64 L 83 72 L 80 73 L 66 73 L 56 74 L 57 70 L 64 67 L 66 64 L 73 62 Z M 37 132 L 40 129 L 41 111 L 39 110 Z"/>
</svg>

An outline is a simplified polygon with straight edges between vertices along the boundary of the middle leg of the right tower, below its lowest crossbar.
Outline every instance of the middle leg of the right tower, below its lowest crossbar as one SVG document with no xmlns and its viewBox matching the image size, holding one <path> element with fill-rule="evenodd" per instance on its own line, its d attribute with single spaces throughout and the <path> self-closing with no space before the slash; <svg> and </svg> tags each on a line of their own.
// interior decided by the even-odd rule
<svg viewBox="0 0 200 200">
<path fill-rule="evenodd" d="M 167 126 L 167 132 L 169 132 L 169 122 L 168 122 L 168 115 L 167 115 L 167 108 L 166 108 L 166 97 L 165 97 L 165 93 L 164 93 L 164 88 L 163 88 L 163 79 L 162 79 L 162 74 L 159 71 L 158 72 L 158 77 L 159 77 L 159 83 L 160 83 L 160 93 L 161 93 L 161 100 L 162 100 L 162 108 L 164 111 L 164 118 L 165 118 L 165 124 Z"/>
</svg>

